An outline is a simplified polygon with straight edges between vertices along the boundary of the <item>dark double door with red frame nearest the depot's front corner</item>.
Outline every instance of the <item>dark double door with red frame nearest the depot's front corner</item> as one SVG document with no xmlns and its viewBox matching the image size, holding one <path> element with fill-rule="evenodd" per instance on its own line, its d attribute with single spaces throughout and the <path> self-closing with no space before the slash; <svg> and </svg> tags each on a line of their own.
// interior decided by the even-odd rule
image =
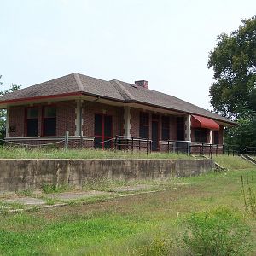
<svg viewBox="0 0 256 256">
<path fill-rule="evenodd" d="M 94 123 L 95 148 L 112 148 L 112 116 L 106 114 L 96 114 Z"/>
</svg>

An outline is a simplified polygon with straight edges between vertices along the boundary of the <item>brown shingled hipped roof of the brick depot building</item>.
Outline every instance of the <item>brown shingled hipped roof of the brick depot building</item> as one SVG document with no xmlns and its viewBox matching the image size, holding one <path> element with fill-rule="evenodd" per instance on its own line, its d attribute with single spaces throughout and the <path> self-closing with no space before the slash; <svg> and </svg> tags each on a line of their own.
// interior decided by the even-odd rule
<svg viewBox="0 0 256 256">
<path fill-rule="evenodd" d="M 155 90 L 148 90 L 135 84 L 125 83 L 119 80 L 105 81 L 95 79 L 79 73 L 72 73 L 58 79 L 32 85 L 25 89 L 17 90 L 0 96 L 0 105 L 4 102 L 20 99 L 32 99 L 40 96 L 58 96 L 65 94 L 81 93 L 84 95 L 101 96 L 119 102 L 137 102 L 158 108 L 166 108 L 182 113 L 192 113 L 227 124 L 234 124 L 216 113 L 185 102 L 177 97 L 170 96 Z"/>
</svg>

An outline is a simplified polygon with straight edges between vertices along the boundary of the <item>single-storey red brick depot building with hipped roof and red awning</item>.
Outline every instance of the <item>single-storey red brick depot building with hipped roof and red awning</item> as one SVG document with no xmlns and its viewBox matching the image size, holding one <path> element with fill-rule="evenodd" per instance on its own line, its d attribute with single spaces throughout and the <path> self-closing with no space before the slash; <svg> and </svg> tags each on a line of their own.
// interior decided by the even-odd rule
<svg viewBox="0 0 256 256">
<path fill-rule="evenodd" d="M 153 150 L 170 142 L 224 143 L 229 119 L 189 102 L 135 84 L 79 73 L 0 96 L 7 109 L 7 142 L 50 143 L 64 139 L 84 147 L 110 148 L 115 136 L 149 139 Z"/>
</svg>

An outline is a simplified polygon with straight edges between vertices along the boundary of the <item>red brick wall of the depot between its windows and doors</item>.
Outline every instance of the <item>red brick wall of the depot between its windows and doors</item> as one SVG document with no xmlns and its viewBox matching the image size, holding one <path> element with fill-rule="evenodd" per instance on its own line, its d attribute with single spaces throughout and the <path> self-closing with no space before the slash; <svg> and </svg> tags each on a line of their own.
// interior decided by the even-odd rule
<svg viewBox="0 0 256 256">
<path fill-rule="evenodd" d="M 42 109 L 47 104 L 35 104 L 38 107 L 38 136 L 42 136 Z M 55 102 L 57 109 L 56 116 L 56 136 L 64 136 L 66 131 L 69 131 L 70 136 L 75 135 L 76 125 L 76 102 Z M 96 113 L 104 113 L 113 116 L 113 137 L 115 135 L 124 134 L 124 108 L 109 106 L 99 102 L 86 102 L 82 104 L 82 118 L 84 123 L 82 125 L 84 136 L 94 136 L 94 122 Z M 9 137 L 24 137 L 25 132 L 25 111 L 26 106 L 17 106 L 9 108 L 9 126 L 15 126 L 15 131 L 9 132 Z M 139 124 L 140 124 L 140 113 L 142 109 L 131 108 L 131 137 L 139 137 Z M 149 138 L 152 138 L 152 114 L 159 115 L 159 139 L 161 141 L 161 117 L 163 114 L 149 112 Z M 169 115 L 170 117 L 170 139 L 177 139 L 177 117 Z M 219 130 L 219 144 L 223 143 L 224 127 L 220 125 Z M 213 139 L 213 138 L 212 138 Z M 194 129 L 191 129 L 191 140 L 195 141 Z M 208 134 L 209 142 L 209 134 Z M 93 146 L 92 142 L 88 142 L 90 146 Z"/>
</svg>

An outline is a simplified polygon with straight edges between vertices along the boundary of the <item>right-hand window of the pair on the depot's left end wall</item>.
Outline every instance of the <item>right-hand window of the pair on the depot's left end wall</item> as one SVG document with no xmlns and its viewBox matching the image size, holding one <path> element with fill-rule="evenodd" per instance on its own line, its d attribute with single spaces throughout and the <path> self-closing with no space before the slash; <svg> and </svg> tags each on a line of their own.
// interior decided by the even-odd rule
<svg viewBox="0 0 256 256">
<path fill-rule="evenodd" d="M 45 106 L 43 108 L 43 136 L 56 135 L 56 108 Z"/>
</svg>

